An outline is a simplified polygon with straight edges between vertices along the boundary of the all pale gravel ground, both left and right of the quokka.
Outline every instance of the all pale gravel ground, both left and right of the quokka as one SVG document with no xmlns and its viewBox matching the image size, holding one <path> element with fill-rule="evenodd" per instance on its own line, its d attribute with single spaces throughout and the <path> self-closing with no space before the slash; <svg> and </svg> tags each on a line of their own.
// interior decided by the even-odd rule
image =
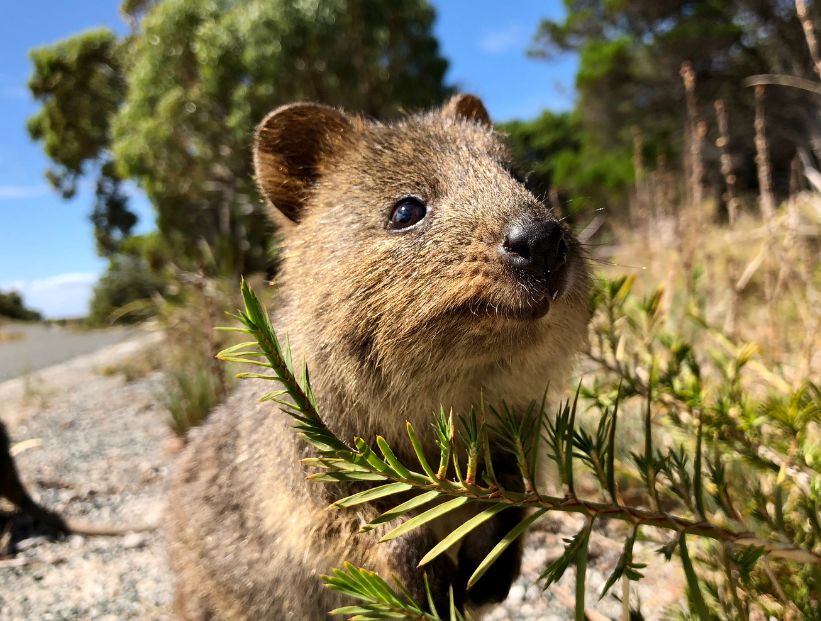
<svg viewBox="0 0 821 621">
<path fill-rule="evenodd" d="M 43 504 L 92 524 L 159 521 L 176 447 L 156 403 L 160 378 L 126 383 L 100 372 L 158 338 L 141 336 L 0 383 L 0 419 L 12 441 L 35 441 L 17 463 Z M 548 594 L 537 578 L 561 554 L 562 538 L 579 526 L 573 516 L 543 520 L 529 536 L 522 577 L 505 604 L 486 618 L 572 619 L 573 570 Z M 598 600 L 621 552 L 607 534 L 599 529 L 591 538 L 587 606 L 593 621 L 621 618 L 613 596 Z M 664 619 L 664 608 L 680 598 L 683 584 L 680 570 L 661 562 L 654 547 L 636 545 L 636 560 L 650 566 L 631 601 L 641 601 L 646 619 Z M 0 584 L 0 621 L 171 618 L 171 576 L 156 532 L 53 540 L 23 519 L 11 532 L 0 524 Z M 620 594 L 620 586 L 615 590 Z"/>
</svg>

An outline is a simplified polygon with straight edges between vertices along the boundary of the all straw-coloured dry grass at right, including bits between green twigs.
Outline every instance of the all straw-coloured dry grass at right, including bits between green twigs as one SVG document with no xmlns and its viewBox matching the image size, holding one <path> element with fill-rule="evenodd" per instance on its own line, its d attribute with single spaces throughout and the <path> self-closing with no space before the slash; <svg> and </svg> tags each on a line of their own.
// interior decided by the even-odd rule
<svg viewBox="0 0 821 621">
<path fill-rule="evenodd" d="M 636 276 L 634 291 L 640 297 L 649 297 L 661 285 L 664 319 L 660 330 L 674 340 L 692 344 L 703 373 L 700 385 L 705 399 L 715 399 L 727 381 L 719 367 L 711 362 L 713 352 L 741 348 L 744 343 L 754 343 L 757 352 L 742 385 L 745 399 L 750 403 L 764 403 L 767 397 L 783 397 L 808 381 L 817 383 L 821 378 L 821 194 L 792 197 L 766 222 L 757 209 L 740 210 L 731 226 L 716 222 L 715 207 L 709 202 L 683 205 L 681 199 L 665 202 L 653 188 L 645 186 L 637 190 L 637 194 L 643 192 L 645 197 L 651 195 L 656 200 L 644 202 L 643 209 L 634 209 L 632 222 L 611 223 L 614 243 L 598 247 L 594 253 L 602 261 L 597 271 L 608 278 L 632 273 Z M 710 328 L 704 329 L 703 324 L 694 321 L 696 317 L 704 318 Z M 641 341 L 641 330 L 630 334 Z M 620 348 L 622 343 L 619 343 Z M 659 343 L 648 343 L 647 350 L 654 346 L 658 347 Z M 648 351 L 642 351 L 640 343 L 627 344 L 625 359 L 630 359 L 631 347 L 638 348 L 644 355 L 642 360 L 647 362 Z M 591 354 L 596 353 L 593 343 Z M 592 364 L 592 360 L 591 356 L 584 368 L 585 386 L 606 384 L 602 368 Z M 666 397 L 654 394 L 657 400 Z M 624 464 L 632 462 L 630 451 L 641 446 L 641 401 L 634 399 L 620 409 L 616 449 L 617 460 Z M 663 408 L 658 410 L 654 410 L 653 417 L 657 445 L 666 448 L 687 442 L 690 430 L 687 421 L 684 425 L 671 424 L 668 418 L 661 416 Z M 761 411 L 757 424 L 762 438 L 776 437 L 776 421 L 765 419 Z M 596 417 L 590 411 L 583 413 L 581 420 L 592 429 Z M 821 446 L 821 427 L 810 423 L 802 434 L 800 440 L 801 434 L 796 434 L 795 440 L 802 445 L 802 450 L 806 449 L 806 459 L 812 462 L 815 453 L 808 447 Z M 776 455 L 767 441 L 753 448 L 764 455 L 772 453 L 786 464 L 795 458 L 789 453 L 784 460 L 784 455 Z M 747 483 L 750 489 L 755 488 L 750 475 L 757 471 L 751 470 L 740 455 L 725 455 L 725 464 L 731 478 L 740 485 L 732 488 L 734 492 Z M 627 498 L 640 484 L 631 478 L 629 469 L 622 471 L 621 476 L 624 478 L 619 486 Z M 753 478 L 768 498 L 776 497 L 772 481 L 757 475 Z M 800 485 L 790 488 L 793 500 L 800 496 L 795 491 L 799 488 Z M 785 506 L 789 507 L 787 511 L 796 511 L 793 504 Z M 657 535 L 647 533 L 651 539 Z M 715 552 L 704 541 L 694 542 L 694 549 L 704 558 L 710 558 Z M 785 576 L 789 574 L 784 572 L 794 569 L 773 571 L 779 580 L 786 581 Z M 717 571 L 716 576 L 720 573 Z M 676 587 L 666 585 L 666 588 L 674 597 L 672 590 Z M 683 591 L 679 595 L 683 597 Z M 782 602 L 788 599 L 780 598 Z M 780 610 L 786 616 L 778 618 L 799 618 L 790 617 L 796 612 L 790 606 Z"/>
</svg>

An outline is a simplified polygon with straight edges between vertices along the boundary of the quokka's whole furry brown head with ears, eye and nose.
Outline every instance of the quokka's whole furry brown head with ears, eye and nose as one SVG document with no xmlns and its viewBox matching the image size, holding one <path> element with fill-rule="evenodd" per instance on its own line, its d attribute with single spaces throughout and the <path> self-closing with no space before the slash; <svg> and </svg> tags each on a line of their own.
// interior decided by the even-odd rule
<svg viewBox="0 0 821 621">
<path fill-rule="evenodd" d="M 254 164 L 281 214 L 289 330 L 314 355 L 344 350 L 395 375 L 578 349 L 583 251 L 511 175 L 476 97 L 385 124 L 277 108 L 257 129 Z"/>
</svg>

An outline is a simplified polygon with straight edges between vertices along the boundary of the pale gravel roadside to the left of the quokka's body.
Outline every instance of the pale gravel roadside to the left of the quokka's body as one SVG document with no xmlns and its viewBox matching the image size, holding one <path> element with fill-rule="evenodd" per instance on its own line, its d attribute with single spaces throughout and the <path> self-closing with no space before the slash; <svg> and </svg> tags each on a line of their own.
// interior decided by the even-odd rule
<svg viewBox="0 0 821 621">
<path fill-rule="evenodd" d="M 159 521 L 173 442 L 156 405 L 159 377 L 126 383 L 100 369 L 156 341 L 107 347 L 0 384 L 16 458 L 40 501 L 84 523 Z M 0 619 L 166 619 L 171 582 L 156 532 L 52 540 L 18 519 L 0 561 Z M 2 537 L 0 537 L 2 541 Z"/>
</svg>

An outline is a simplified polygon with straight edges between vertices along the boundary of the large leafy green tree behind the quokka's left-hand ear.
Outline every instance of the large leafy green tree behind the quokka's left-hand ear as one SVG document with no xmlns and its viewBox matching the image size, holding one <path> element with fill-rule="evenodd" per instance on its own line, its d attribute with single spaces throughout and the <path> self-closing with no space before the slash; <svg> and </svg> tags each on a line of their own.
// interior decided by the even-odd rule
<svg viewBox="0 0 821 621">
<path fill-rule="evenodd" d="M 32 53 L 43 107 L 31 134 L 64 195 L 92 168 L 98 175 L 103 252 L 133 226 L 120 187 L 131 179 L 175 261 L 262 269 L 272 231 L 249 147 L 268 110 L 311 99 L 384 117 L 448 93 L 424 0 L 139 0 L 123 10 L 128 37 L 93 31 Z"/>
</svg>

